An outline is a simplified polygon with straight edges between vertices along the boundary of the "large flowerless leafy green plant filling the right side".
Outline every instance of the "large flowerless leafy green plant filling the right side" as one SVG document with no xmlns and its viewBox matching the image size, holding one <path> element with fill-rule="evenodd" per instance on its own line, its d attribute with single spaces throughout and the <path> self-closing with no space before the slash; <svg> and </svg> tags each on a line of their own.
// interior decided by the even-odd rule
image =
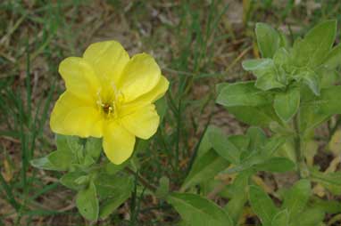
<svg viewBox="0 0 341 226">
<path fill-rule="evenodd" d="M 322 225 L 328 210 L 310 203 L 312 182 L 338 194 L 339 173 L 322 173 L 317 165 L 308 165 L 308 144 L 316 127 L 341 113 L 337 100 L 341 88 L 336 85 L 341 52 L 340 45 L 333 47 L 336 33 L 336 20 L 327 20 L 291 46 L 281 32 L 267 24 L 256 25 L 262 58 L 242 63 L 256 80 L 219 84 L 216 100 L 251 127 L 244 135 L 229 137 L 209 127 L 182 191 L 194 192 L 198 186 L 206 198 L 229 198 L 223 209 L 234 225 L 241 223 L 247 203 L 262 225 Z M 277 203 L 252 180 L 258 172 L 290 171 L 296 171 L 301 180 L 282 191 Z M 229 177 L 235 179 L 226 185 Z M 192 198 L 183 200 L 194 205 Z M 188 225 L 208 225 L 196 224 L 188 218 L 187 209 L 172 204 Z M 198 208 L 201 205 L 197 203 Z"/>
</svg>

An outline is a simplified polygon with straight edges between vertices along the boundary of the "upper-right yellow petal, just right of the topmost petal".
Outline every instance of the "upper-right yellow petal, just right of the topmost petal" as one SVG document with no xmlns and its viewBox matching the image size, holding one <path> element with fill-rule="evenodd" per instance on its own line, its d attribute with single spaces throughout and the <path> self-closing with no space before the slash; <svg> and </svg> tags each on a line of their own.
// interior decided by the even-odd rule
<svg viewBox="0 0 341 226">
<path fill-rule="evenodd" d="M 129 102 L 150 92 L 158 84 L 161 69 L 154 58 L 146 53 L 135 55 L 126 65 L 117 84 L 124 95 L 124 101 Z"/>
</svg>

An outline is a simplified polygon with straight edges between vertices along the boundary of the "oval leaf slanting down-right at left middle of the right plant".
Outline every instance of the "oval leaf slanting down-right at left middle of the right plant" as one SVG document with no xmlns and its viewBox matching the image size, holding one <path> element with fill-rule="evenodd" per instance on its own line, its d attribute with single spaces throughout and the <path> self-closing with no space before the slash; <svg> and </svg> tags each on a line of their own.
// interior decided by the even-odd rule
<svg viewBox="0 0 341 226">
<path fill-rule="evenodd" d="M 237 164 L 239 162 L 240 150 L 229 141 L 227 136 L 221 130 L 214 130 L 209 133 L 209 139 L 212 147 L 220 157 L 224 157 L 230 163 Z"/>
</svg>

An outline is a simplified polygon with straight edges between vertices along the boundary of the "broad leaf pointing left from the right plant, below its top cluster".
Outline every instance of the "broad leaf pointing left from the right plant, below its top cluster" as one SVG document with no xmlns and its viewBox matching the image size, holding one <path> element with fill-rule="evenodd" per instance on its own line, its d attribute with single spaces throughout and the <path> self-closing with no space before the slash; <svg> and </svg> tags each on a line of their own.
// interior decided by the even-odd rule
<svg viewBox="0 0 341 226">
<path fill-rule="evenodd" d="M 217 98 L 217 103 L 225 107 L 259 106 L 269 104 L 268 93 L 254 87 L 254 82 L 241 82 L 226 85 Z"/>
</svg>

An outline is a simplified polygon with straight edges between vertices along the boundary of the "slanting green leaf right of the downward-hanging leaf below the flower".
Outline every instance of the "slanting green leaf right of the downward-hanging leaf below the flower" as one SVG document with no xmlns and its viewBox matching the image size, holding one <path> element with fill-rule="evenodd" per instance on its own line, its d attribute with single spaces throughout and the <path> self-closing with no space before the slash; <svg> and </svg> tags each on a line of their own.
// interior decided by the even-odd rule
<svg viewBox="0 0 341 226">
<path fill-rule="evenodd" d="M 101 219 L 107 218 L 113 211 L 115 211 L 122 203 L 124 203 L 131 195 L 134 187 L 134 182 L 131 177 L 124 178 L 120 183 L 115 181 L 108 192 L 111 193 L 112 198 L 105 198 L 101 205 L 99 217 Z M 103 189 L 103 188 L 102 188 Z M 107 196 L 109 197 L 109 196 Z"/>
</svg>

